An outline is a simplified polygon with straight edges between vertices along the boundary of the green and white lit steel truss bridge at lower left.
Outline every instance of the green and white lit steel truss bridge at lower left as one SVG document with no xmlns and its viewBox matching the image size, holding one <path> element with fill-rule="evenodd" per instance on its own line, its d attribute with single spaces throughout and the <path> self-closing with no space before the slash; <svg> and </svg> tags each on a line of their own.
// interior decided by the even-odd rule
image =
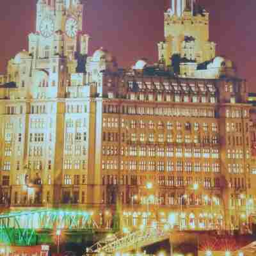
<svg viewBox="0 0 256 256">
<path fill-rule="evenodd" d="M 36 210 L 0 215 L 0 243 L 35 245 L 39 230 L 93 230 L 92 214 L 84 211 Z"/>
</svg>

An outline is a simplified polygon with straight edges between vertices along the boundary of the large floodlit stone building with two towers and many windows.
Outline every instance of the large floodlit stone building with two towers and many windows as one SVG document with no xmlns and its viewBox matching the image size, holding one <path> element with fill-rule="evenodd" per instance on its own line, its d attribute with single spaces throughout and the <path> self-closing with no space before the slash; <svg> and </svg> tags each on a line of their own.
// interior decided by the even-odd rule
<svg viewBox="0 0 256 256">
<path fill-rule="evenodd" d="M 124 70 L 104 49 L 88 56 L 79 0 L 38 1 L 28 51 L 0 77 L 3 207 L 92 209 L 102 227 L 252 224 L 248 85 L 194 2 L 164 13 L 158 63 Z"/>
</svg>

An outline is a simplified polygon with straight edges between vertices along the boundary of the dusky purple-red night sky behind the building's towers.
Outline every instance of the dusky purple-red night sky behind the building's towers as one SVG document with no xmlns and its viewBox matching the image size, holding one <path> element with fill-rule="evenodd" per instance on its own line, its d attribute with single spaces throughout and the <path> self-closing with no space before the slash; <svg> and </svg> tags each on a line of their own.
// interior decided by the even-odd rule
<svg viewBox="0 0 256 256">
<path fill-rule="evenodd" d="M 0 72 L 6 61 L 28 49 L 27 35 L 35 31 L 37 0 L 1 0 Z M 120 67 L 140 58 L 157 61 L 163 37 L 163 13 L 168 0 L 87 0 L 84 31 L 92 36 L 90 54 L 99 47 L 111 51 Z M 217 54 L 236 63 L 240 77 L 256 92 L 256 1 L 200 0 L 210 12 L 211 41 Z"/>
</svg>

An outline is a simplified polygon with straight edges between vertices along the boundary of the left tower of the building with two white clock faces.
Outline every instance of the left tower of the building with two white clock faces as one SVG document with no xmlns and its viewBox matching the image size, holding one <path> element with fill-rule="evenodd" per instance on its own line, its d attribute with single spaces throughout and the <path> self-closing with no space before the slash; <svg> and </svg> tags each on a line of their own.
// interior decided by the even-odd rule
<svg viewBox="0 0 256 256">
<path fill-rule="evenodd" d="M 36 9 L 36 33 L 29 35 L 29 53 L 34 58 L 67 57 L 70 72 L 76 72 L 76 56 L 88 53 L 89 39 L 82 33 L 81 0 L 38 0 Z"/>
</svg>

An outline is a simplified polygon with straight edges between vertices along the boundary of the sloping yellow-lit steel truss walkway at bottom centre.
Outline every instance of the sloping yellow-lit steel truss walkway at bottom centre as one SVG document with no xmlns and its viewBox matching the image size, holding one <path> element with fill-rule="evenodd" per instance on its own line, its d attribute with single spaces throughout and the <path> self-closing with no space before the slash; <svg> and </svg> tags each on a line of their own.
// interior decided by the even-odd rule
<svg viewBox="0 0 256 256">
<path fill-rule="evenodd" d="M 93 244 L 92 247 L 86 248 L 85 254 L 106 253 L 113 255 L 115 253 L 125 253 L 131 250 L 138 250 L 149 244 L 163 241 L 170 237 L 171 229 L 169 225 L 155 225 L 145 227 L 143 230 L 138 230 L 125 236 L 116 237 L 113 239 L 105 239 Z"/>
</svg>

